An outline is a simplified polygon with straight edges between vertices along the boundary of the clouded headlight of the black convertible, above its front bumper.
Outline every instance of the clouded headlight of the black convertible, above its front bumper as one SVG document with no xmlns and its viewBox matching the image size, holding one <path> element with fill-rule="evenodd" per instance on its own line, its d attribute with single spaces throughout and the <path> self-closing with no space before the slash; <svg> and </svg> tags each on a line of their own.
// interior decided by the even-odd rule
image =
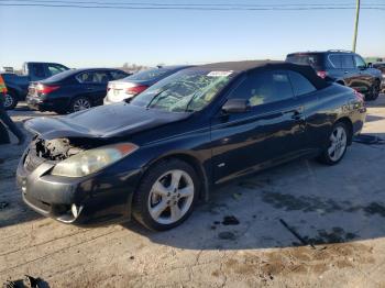
<svg viewBox="0 0 385 288">
<path fill-rule="evenodd" d="M 121 143 L 84 151 L 56 164 L 51 174 L 82 177 L 105 168 L 136 149 L 138 146 L 132 143 Z"/>
</svg>

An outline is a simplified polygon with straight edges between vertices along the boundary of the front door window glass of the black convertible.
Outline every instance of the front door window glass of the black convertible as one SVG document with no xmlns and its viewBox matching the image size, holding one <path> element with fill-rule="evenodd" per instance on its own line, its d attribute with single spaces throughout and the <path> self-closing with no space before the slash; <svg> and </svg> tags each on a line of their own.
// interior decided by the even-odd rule
<svg viewBox="0 0 385 288">
<path fill-rule="evenodd" d="M 230 98 L 246 99 L 252 107 L 293 97 L 292 85 L 286 71 L 252 74 L 230 96 Z"/>
</svg>

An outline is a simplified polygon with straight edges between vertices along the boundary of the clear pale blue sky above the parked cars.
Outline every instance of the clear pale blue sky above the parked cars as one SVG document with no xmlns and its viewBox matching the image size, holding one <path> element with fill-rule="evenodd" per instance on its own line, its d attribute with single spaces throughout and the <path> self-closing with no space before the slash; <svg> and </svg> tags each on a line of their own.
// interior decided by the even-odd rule
<svg viewBox="0 0 385 288">
<path fill-rule="evenodd" d="M 355 0 L 142 2 L 354 5 Z M 385 4 L 385 0 L 361 2 Z M 119 67 L 124 63 L 153 66 L 284 59 L 286 54 L 298 51 L 352 49 L 354 16 L 354 10 L 180 11 L 0 5 L 0 67 L 20 68 L 29 60 L 78 68 Z M 356 52 L 364 57 L 385 57 L 384 36 L 385 10 L 362 10 Z"/>
</svg>

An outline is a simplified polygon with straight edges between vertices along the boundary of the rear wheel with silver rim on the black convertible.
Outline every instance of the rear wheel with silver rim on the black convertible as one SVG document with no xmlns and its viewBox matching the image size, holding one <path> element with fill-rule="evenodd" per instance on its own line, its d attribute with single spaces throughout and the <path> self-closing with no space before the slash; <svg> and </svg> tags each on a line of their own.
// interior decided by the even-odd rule
<svg viewBox="0 0 385 288">
<path fill-rule="evenodd" d="M 336 165 L 342 160 L 351 137 L 349 129 L 343 122 L 337 122 L 331 131 L 328 139 L 328 147 L 318 157 L 319 162 L 327 165 Z"/>
</svg>

